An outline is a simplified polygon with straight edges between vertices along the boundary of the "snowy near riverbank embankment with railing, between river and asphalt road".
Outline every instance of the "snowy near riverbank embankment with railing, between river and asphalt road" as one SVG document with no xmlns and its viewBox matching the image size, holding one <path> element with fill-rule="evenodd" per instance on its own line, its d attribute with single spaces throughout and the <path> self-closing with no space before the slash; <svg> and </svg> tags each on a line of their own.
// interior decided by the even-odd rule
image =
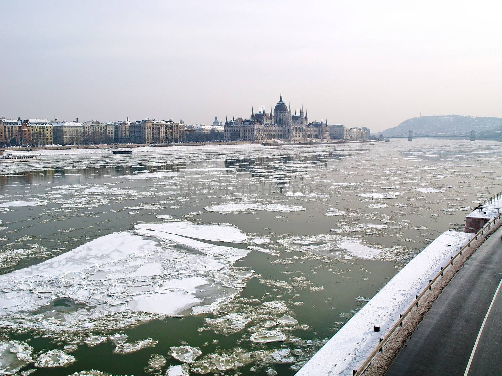
<svg viewBox="0 0 502 376">
<path fill-rule="evenodd" d="M 493 197 L 488 200 L 497 206 Z M 347 321 L 297 376 L 361 374 L 370 361 L 365 374 L 384 375 L 443 288 L 502 224 L 500 216 L 492 220 L 475 234 L 450 230 L 440 235 Z"/>
</svg>

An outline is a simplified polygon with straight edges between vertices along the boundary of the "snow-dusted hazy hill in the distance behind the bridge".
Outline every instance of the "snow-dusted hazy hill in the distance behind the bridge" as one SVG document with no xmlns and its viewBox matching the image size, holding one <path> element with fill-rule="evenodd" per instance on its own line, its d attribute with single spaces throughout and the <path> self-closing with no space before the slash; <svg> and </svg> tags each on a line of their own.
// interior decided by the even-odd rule
<svg viewBox="0 0 502 376">
<path fill-rule="evenodd" d="M 502 130 L 502 118 L 461 115 L 421 116 L 405 120 L 397 127 L 386 129 L 382 133 L 389 137 L 413 130 L 416 133 L 434 136 L 466 133 L 472 129 L 484 134 Z"/>
</svg>

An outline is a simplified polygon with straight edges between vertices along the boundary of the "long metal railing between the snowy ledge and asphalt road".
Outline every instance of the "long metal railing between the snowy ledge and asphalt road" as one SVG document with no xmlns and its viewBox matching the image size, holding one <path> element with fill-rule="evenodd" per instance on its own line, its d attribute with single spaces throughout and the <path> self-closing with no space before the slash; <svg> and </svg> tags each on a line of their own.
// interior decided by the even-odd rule
<svg viewBox="0 0 502 376">
<path fill-rule="evenodd" d="M 492 200 L 494 197 L 499 197 L 501 196 L 502 193 L 498 193 L 497 195 L 494 195 L 493 197 L 491 197 L 490 199 L 488 200 Z M 467 242 L 466 245 L 464 245 L 463 247 L 460 248 L 460 250 L 455 254 L 455 256 L 451 256 L 451 259 L 450 261 L 448 261 L 446 263 L 446 265 L 444 267 L 441 268 L 441 271 L 436 274 L 436 276 L 433 278 L 433 279 L 430 279 L 429 280 L 429 284 L 427 286 L 425 286 L 425 288 L 422 290 L 422 292 L 420 293 L 420 295 L 416 295 L 415 296 L 415 301 L 413 302 L 413 304 L 411 304 L 408 309 L 403 313 L 403 314 L 400 314 L 399 315 L 399 320 L 394 324 L 394 326 L 389 330 L 389 332 L 385 335 L 384 338 L 379 338 L 380 340 L 380 343 L 378 344 L 378 346 L 376 346 L 376 348 L 371 352 L 371 354 L 369 354 L 369 356 L 366 358 L 366 360 L 364 360 L 364 362 L 361 364 L 361 366 L 359 367 L 359 369 L 354 369 L 352 371 L 352 374 L 354 376 L 360 376 L 365 370 L 366 368 L 371 364 L 371 361 L 373 361 L 374 357 L 379 353 L 379 352 L 382 352 L 384 346 L 387 344 L 387 342 L 389 341 L 389 339 L 392 337 L 392 335 L 396 332 L 396 330 L 400 327 L 400 326 L 403 326 L 403 321 L 405 320 L 405 318 L 410 314 L 410 312 L 413 310 L 413 308 L 415 307 L 418 307 L 418 303 L 419 303 L 419 300 L 422 299 L 422 297 L 427 293 L 428 290 L 432 289 L 432 285 L 439 279 L 443 276 L 443 273 L 445 272 L 446 268 L 448 268 L 449 266 L 453 265 L 453 262 L 455 261 L 455 259 L 460 256 L 462 254 L 462 252 L 467 249 L 468 247 L 470 247 L 471 243 L 472 242 L 475 242 L 477 240 L 477 237 L 478 236 L 481 236 L 483 235 L 483 232 L 484 231 L 487 231 L 490 229 L 491 225 L 493 225 L 497 220 L 500 220 L 502 218 L 502 214 L 499 214 L 498 216 L 496 216 L 495 218 L 493 218 L 491 221 L 489 221 L 486 225 L 484 225 L 481 230 L 479 230 L 472 238 L 471 240 L 469 240 Z"/>
</svg>

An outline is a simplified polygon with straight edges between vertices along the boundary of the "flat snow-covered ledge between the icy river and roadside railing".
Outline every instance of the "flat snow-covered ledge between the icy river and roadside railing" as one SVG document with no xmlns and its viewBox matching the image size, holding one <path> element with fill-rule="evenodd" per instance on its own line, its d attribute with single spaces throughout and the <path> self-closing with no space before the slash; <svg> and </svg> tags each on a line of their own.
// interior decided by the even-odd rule
<svg viewBox="0 0 502 376">
<path fill-rule="evenodd" d="M 474 234 L 446 231 L 411 260 L 296 373 L 296 376 L 352 375 L 379 338 Z M 380 325 L 375 332 L 373 325 Z"/>
</svg>

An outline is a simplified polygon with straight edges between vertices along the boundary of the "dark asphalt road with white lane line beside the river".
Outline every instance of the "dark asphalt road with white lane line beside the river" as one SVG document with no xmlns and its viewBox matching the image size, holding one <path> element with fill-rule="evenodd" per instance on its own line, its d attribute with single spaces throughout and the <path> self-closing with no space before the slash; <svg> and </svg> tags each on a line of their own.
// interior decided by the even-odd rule
<svg viewBox="0 0 502 376">
<path fill-rule="evenodd" d="M 501 279 L 498 230 L 453 277 L 386 375 L 502 374 Z"/>
</svg>

